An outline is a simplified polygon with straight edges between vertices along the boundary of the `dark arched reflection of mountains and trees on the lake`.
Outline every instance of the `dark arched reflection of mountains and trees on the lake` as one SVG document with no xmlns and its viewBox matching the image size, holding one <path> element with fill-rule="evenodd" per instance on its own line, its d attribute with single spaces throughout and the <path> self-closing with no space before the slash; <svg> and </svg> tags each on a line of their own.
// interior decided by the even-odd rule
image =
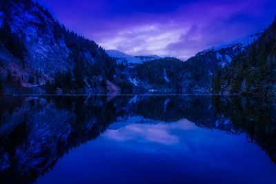
<svg viewBox="0 0 276 184">
<path fill-rule="evenodd" d="M 47 96 L 0 101 L 0 178 L 32 183 L 73 147 L 97 139 L 112 123 L 139 116 L 187 119 L 210 130 L 246 134 L 276 163 L 276 105 L 240 96 Z M 150 122 L 150 121 L 147 121 Z M 143 123 L 143 122 L 140 122 Z"/>
</svg>

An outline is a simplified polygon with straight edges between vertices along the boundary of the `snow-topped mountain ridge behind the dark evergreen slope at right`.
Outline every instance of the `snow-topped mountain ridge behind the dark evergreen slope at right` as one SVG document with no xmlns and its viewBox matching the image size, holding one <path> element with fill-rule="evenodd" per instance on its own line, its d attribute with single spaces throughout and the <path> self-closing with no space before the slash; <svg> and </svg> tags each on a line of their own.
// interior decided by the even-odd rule
<svg viewBox="0 0 276 184">
<path fill-rule="evenodd" d="M 237 55 L 244 50 L 247 50 L 248 45 L 258 39 L 261 34 L 250 35 L 243 39 L 237 39 L 231 43 L 218 45 L 208 50 L 204 50 L 191 57 L 185 63 L 189 65 L 191 79 L 189 79 L 190 86 L 193 92 L 211 92 L 213 74 L 224 68 L 237 57 Z"/>
</svg>

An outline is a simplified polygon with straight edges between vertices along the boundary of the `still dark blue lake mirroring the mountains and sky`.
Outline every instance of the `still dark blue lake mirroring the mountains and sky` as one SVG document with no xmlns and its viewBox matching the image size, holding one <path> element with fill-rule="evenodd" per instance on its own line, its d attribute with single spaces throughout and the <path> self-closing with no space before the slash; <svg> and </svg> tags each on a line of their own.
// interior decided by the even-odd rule
<svg viewBox="0 0 276 184">
<path fill-rule="evenodd" d="M 276 183 L 274 99 L 10 96 L 0 105 L 0 183 Z"/>
</svg>

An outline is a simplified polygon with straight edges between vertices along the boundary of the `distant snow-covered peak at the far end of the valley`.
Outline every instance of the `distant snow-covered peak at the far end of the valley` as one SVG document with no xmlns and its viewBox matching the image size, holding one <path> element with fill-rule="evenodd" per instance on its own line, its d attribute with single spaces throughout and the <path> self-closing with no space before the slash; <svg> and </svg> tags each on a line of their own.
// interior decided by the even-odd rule
<svg viewBox="0 0 276 184">
<path fill-rule="evenodd" d="M 114 58 L 118 64 L 124 64 L 129 66 L 134 66 L 137 64 L 141 64 L 148 61 L 153 61 L 155 59 L 161 59 L 161 57 L 157 55 L 151 55 L 151 56 L 135 56 L 132 57 L 128 54 L 125 54 L 124 52 L 120 52 L 119 50 L 106 50 L 106 53 Z"/>
</svg>

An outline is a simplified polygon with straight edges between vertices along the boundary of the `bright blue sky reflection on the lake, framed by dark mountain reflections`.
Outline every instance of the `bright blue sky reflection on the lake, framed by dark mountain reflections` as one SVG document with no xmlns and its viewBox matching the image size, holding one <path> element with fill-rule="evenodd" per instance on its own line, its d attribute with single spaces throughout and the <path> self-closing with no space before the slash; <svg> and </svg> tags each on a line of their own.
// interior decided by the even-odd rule
<svg viewBox="0 0 276 184">
<path fill-rule="evenodd" d="M 110 126 L 37 183 L 273 183 L 276 167 L 243 135 L 173 123 Z"/>
</svg>

